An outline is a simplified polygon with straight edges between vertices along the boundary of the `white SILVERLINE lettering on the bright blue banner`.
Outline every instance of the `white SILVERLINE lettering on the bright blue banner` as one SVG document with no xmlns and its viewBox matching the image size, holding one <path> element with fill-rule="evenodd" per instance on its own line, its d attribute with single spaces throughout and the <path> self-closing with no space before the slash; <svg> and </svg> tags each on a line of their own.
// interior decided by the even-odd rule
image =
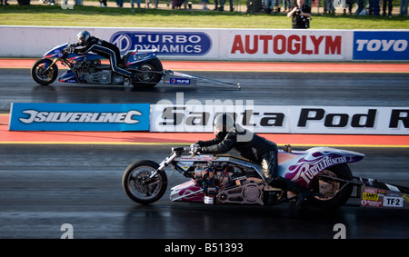
<svg viewBox="0 0 409 257">
<path fill-rule="evenodd" d="M 25 110 L 28 118 L 19 118 L 24 124 L 32 123 L 99 123 L 99 124 L 137 124 L 134 115 L 141 116 L 138 111 L 127 113 L 83 113 L 83 112 L 38 112 Z"/>
</svg>

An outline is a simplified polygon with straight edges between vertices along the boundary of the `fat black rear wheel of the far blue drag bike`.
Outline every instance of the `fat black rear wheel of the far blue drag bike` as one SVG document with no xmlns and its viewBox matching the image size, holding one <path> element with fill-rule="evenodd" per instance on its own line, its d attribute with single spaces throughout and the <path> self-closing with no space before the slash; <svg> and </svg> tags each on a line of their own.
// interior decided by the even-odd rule
<svg viewBox="0 0 409 257">
<path fill-rule="evenodd" d="M 161 81 L 164 68 L 161 61 L 154 58 L 145 64 L 141 64 L 137 70 L 140 70 L 141 74 L 136 74 L 136 81 L 133 85 L 135 87 L 154 87 Z M 143 74 L 144 72 L 145 74 Z"/>
</svg>

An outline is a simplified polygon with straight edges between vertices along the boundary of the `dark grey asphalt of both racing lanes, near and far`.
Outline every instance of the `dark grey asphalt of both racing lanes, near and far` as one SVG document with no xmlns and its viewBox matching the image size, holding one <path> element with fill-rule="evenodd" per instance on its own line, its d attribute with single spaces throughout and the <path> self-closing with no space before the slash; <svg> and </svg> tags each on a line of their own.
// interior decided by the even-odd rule
<svg viewBox="0 0 409 257">
<path fill-rule="evenodd" d="M 409 96 L 407 72 L 195 74 L 239 82 L 242 91 L 165 85 L 148 92 L 58 83 L 38 86 L 28 69 L 3 68 L 0 112 L 7 113 L 13 102 L 155 104 L 162 99 L 175 101 L 178 92 L 184 93 L 185 101 L 252 99 L 254 104 L 272 105 L 407 106 Z M 37 135 L 40 133 L 34 133 L 34 137 Z M 138 138 L 134 133 L 133 142 Z M 160 162 L 169 147 L 2 143 L 0 238 L 60 238 L 64 223 L 73 225 L 75 238 L 332 238 L 336 223 L 344 223 L 347 238 L 409 237 L 407 211 L 360 209 L 355 200 L 326 214 L 304 213 L 289 204 L 252 207 L 171 203 L 168 194 L 150 206 L 130 201 L 121 186 L 125 167 L 140 159 Z M 354 175 L 409 185 L 407 147 L 348 149 L 366 154 L 364 161 L 351 164 Z M 168 190 L 184 181 L 175 173 Z"/>
</svg>

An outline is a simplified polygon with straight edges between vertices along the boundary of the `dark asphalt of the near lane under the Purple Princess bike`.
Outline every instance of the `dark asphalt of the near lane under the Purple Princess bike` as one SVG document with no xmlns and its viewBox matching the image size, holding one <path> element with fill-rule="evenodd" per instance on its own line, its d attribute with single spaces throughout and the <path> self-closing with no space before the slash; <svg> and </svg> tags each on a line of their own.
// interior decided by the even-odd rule
<svg viewBox="0 0 409 257">
<path fill-rule="evenodd" d="M 366 153 L 355 175 L 408 185 L 407 149 Z M 168 192 L 149 206 L 132 202 L 121 186 L 137 159 L 160 162 L 169 146 L 3 145 L 0 149 L 0 238 L 60 238 L 70 223 L 75 238 L 408 238 L 408 211 L 361 209 L 356 200 L 334 213 L 305 213 L 292 204 L 271 207 L 172 203 Z M 167 172 L 170 175 L 170 171 Z"/>
</svg>

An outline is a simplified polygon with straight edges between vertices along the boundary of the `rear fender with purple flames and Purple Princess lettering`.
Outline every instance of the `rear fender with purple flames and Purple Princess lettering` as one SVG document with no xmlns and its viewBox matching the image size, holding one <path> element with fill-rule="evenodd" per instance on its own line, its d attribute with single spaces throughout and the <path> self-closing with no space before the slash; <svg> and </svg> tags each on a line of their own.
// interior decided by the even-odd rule
<svg viewBox="0 0 409 257">
<path fill-rule="evenodd" d="M 278 174 L 305 187 L 310 187 L 314 177 L 329 167 L 359 162 L 364 158 L 364 153 L 329 147 L 314 147 L 303 153 L 288 154 L 296 154 L 296 157 L 280 164 Z"/>
</svg>

